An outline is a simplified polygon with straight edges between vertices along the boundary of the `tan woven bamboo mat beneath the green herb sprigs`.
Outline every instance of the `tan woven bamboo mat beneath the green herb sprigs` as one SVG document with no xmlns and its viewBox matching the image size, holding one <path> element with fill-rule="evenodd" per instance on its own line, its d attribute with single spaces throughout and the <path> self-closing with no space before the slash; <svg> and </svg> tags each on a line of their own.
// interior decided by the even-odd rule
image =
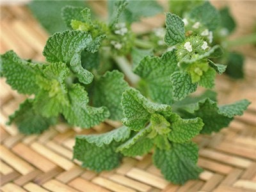
<svg viewBox="0 0 256 192">
<path fill-rule="evenodd" d="M 147 25 L 147 24 L 146 24 Z M 1 54 L 13 49 L 22 58 L 44 60 L 47 40 L 24 6 L 1 6 Z M 71 161 L 74 136 L 105 132 L 109 124 L 90 130 L 57 125 L 38 136 L 19 134 L 6 126 L 8 115 L 24 100 L 1 79 L 1 191 L 256 191 L 256 82 L 255 52 L 246 56 L 246 79 L 218 77 L 216 90 L 221 103 L 248 98 L 252 105 L 235 118 L 228 129 L 212 136 L 198 136 L 198 164 L 205 169 L 199 180 L 184 186 L 170 184 L 152 165 L 151 155 L 124 158 L 111 172 L 95 173 Z"/>
</svg>

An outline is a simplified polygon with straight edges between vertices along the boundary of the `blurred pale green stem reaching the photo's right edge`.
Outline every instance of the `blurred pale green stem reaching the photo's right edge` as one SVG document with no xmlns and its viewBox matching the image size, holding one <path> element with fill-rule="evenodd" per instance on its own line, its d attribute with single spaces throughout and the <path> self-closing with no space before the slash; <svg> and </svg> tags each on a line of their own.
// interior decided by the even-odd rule
<svg viewBox="0 0 256 192">
<path fill-rule="evenodd" d="M 223 42 L 223 45 L 225 45 L 225 47 L 233 47 L 245 44 L 256 44 L 256 33 L 239 37 L 236 40 L 228 40 L 226 42 Z"/>
</svg>

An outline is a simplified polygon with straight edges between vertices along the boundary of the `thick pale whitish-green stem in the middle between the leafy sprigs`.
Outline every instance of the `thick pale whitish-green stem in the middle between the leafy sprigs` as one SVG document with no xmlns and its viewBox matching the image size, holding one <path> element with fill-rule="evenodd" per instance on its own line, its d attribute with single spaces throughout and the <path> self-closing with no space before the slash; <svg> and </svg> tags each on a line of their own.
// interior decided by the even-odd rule
<svg viewBox="0 0 256 192">
<path fill-rule="evenodd" d="M 116 64 L 124 72 L 127 77 L 129 83 L 131 85 L 135 85 L 140 80 L 140 77 L 132 72 L 131 63 L 124 56 L 112 56 L 113 60 L 116 61 Z"/>
</svg>

